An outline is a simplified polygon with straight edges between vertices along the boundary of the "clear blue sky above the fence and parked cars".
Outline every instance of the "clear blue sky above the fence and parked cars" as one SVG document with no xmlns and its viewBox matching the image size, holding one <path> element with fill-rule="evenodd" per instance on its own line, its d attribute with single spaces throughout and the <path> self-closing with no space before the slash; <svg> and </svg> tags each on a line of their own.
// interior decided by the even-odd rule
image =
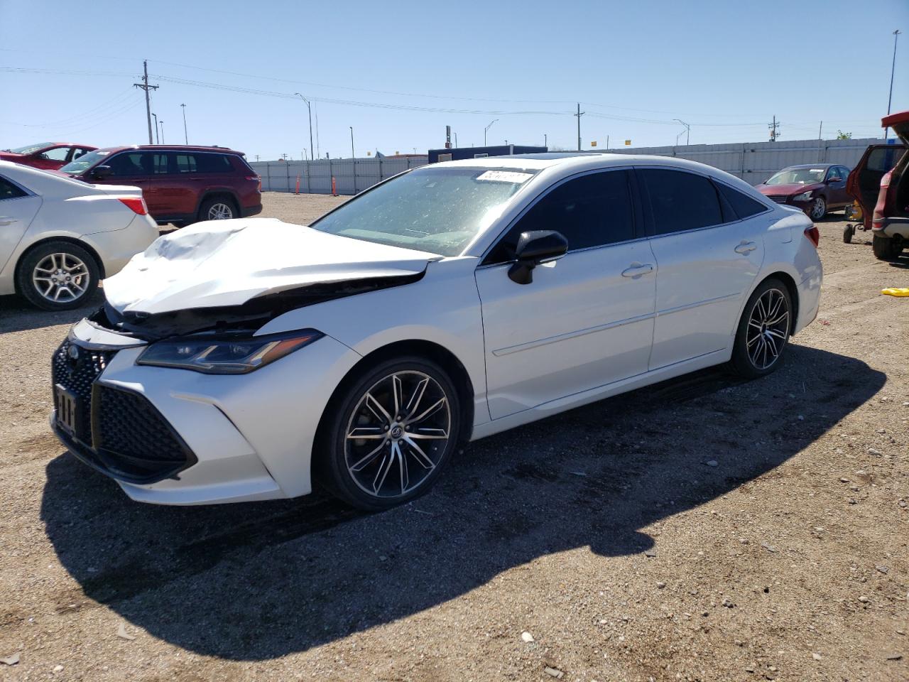
<svg viewBox="0 0 909 682">
<path fill-rule="evenodd" d="M 460 146 L 584 148 L 880 135 L 909 109 L 909 1 L 69 2 L 0 0 L 0 147 L 147 140 L 148 59 L 165 141 L 300 158 L 305 104 L 336 156 Z M 13 69 L 13 70 L 10 70 Z M 258 93 L 250 92 L 258 91 Z M 314 118 L 315 127 L 315 118 Z M 315 133 L 314 133 L 315 135 Z M 684 135 L 680 138 L 684 143 Z M 453 138 L 454 140 L 454 138 Z M 618 143 L 616 144 L 616 141 Z"/>
</svg>

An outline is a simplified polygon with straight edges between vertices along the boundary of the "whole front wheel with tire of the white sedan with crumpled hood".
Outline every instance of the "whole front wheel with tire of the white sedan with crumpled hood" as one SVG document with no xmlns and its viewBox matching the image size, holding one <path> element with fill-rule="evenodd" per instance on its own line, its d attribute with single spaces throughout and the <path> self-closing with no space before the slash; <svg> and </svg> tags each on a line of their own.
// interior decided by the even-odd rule
<svg viewBox="0 0 909 682">
<path fill-rule="evenodd" d="M 392 417 L 392 422 L 387 423 L 383 410 L 372 405 L 393 403 L 390 391 L 395 376 L 400 377 L 400 405 L 405 409 L 401 410 L 401 415 L 391 415 L 394 409 L 386 410 Z M 430 381 L 420 392 L 419 382 L 423 378 Z M 375 397 L 369 411 L 365 407 L 367 394 Z M 418 394 L 417 403 L 408 413 L 407 403 Z M 446 401 L 443 406 L 424 419 L 415 420 L 414 426 L 405 426 L 407 417 L 418 417 L 443 394 Z M 405 419 L 397 419 L 398 416 L 405 416 Z M 383 417 L 381 424 L 377 417 Z M 320 426 L 315 443 L 314 474 L 331 493 L 359 509 L 381 511 L 405 504 L 424 495 L 442 474 L 457 447 L 460 417 L 460 396 L 442 367 L 416 356 L 385 360 L 354 380 L 345 381 L 327 407 L 325 423 Z M 430 424 L 435 427 L 429 427 Z M 441 436 L 428 435 L 445 430 L 445 426 L 448 436 L 444 441 Z M 348 437 L 355 431 L 368 435 L 369 440 Z M 417 441 L 413 437 L 418 432 L 419 438 L 425 440 Z M 413 443 L 418 443 L 416 450 L 411 446 Z M 362 466 L 355 472 L 352 468 L 357 465 Z M 414 483 L 411 471 L 413 478 L 418 479 Z M 407 486 L 411 487 L 405 486 L 405 477 Z M 375 491 L 369 491 L 369 486 L 375 487 Z"/>
</svg>

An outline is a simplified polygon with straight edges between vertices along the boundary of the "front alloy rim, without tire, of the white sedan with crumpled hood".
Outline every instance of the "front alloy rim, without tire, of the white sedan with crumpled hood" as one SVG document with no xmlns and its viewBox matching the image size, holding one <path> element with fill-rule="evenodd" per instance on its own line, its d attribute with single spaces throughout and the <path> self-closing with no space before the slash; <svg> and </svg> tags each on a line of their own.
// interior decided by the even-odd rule
<svg viewBox="0 0 909 682">
<path fill-rule="evenodd" d="M 448 397 L 432 376 L 411 370 L 385 376 L 348 419 L 347 473 L 369 496 L 405 496 L 441 462 L 451 426 Z"/>
</svg>

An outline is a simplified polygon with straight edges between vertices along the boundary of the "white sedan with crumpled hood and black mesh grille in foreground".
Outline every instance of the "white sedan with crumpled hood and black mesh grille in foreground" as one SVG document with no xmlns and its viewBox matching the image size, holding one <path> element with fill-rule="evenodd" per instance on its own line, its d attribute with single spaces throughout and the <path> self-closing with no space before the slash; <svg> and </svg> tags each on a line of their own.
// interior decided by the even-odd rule
<svg viewBox="0 0 909 682">
<path fill-rule="evenodd" d="M 732 362 L 817 314 L 817 229 L 722 171 L 630 155 L 424 166 L 312 226 L 158 239 L 54 356 L 51 424 L 135 500 L 365 509 L 457 443 Z"/>
</svg>

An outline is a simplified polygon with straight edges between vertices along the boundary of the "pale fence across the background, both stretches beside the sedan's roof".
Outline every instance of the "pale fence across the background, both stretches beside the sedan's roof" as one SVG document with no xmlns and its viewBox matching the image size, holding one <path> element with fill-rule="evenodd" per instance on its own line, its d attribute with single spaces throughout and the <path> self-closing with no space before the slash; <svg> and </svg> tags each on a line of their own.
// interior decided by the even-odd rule
<svg viewBox="0 0 909 682">
<path fill-rule="evenodd" d="M 678 145 L 622 147 L 610 154 L 654 154 L 699 161 L 741 177 L 751 185 L 763 182 L 775 171 L 796 164 L 842 164 L 854 167 L 868 145 L 882 140 L 788 140 L 786 142 L 736 142 L 729 145 Z M 332 177 L 339 195 L 355 195 L 386 177 L 408 168 L 426 165 L 428 157 L 317 159 L 315 161 L 259 161 L 251 164 L 262 177 L 262 189 L 294 192 L 297 178 L 301 194 L 327 195 Z"/>
</svg>

